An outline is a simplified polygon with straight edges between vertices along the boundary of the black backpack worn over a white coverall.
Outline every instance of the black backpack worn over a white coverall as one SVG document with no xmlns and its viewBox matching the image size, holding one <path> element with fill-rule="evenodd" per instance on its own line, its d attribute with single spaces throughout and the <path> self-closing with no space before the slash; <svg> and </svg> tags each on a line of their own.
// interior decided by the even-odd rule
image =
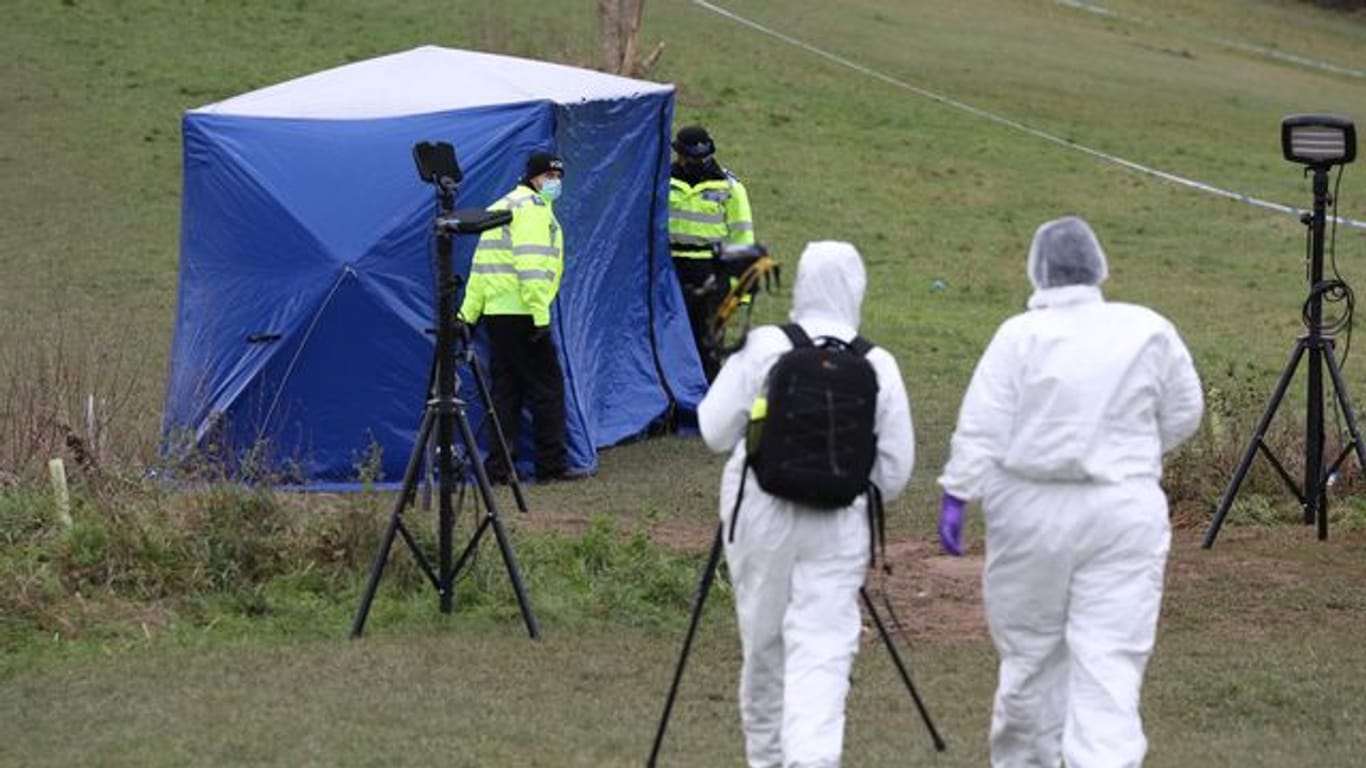
<svg viewBox="0 0 1366 768">
<path fill-rule="evenodd" d="M 877 458 L 873 344 L 783 325 L 792 350 L 769 370 L 762 422 L 751 425 L 747 461 L 759 488 L 790 502 L 837 510 L 869 489 Z M 757 429 L 754 429 L 757 428 Z"/>
</svg>

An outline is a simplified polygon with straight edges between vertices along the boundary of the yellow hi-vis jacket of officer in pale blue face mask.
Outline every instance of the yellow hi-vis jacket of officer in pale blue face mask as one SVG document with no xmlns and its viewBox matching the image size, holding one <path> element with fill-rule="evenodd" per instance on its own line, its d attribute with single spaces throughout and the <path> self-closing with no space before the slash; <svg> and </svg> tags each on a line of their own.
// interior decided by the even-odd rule
<svg viewBox="0 0 1366 768">
<path fill-rule="evenodd" d="M 555 209 L 540 193 L 518 184 L 489 210 L 511 210 L 512 221 L 479 235 L 460 318 L 473 325 L 485 314 L 530 314 L 534 325 L 549 325 L 550 302 L 564 275 Z"/>
</svg>

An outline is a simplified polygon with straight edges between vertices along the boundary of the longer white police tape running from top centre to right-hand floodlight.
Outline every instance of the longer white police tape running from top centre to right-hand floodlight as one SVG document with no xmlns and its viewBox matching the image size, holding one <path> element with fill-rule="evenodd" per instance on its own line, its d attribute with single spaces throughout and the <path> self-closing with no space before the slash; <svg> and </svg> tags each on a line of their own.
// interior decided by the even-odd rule
<svg viewBox="0 0 1366 768">
<path fill-rule="evenodd" d="M 865 67 L 863 64 L 859 64 L 856 61 L 846 59 L 846 57 L 843 57 L 843 56 L 840 56 L 837 53 L 831 53 L 829 51 L 824 51 L 824 49 L 817 48 L 817 46 L 809 44 L 809 42 L 805 42 L 802 40 L 798 40 L 795 37 L 791 37 L 791 36 L 784 34 L 781 31 L 777 31 L 775 29 L 769 29 L 769 27 L 766 27 L 766 26 L 764 26 L 764 25 L 761 25 L 761 23 L 758 23 L 755 20 L 747 19 L 747 18 L 744 18 L 744 16 L 742 16 L 742 15 L 734 12 L 734 11 L 728 11 L 728 10 L 721 8 L 720 5 L 717 5 L 714 3 L 709 3 L 708 0 L 693 0 L 693 4 L 694 5 L 699 5 L 702 8 L 706 8 L 708 11 L 712 11 L 713 14 L 725 16 L 725 18 L 731 19 L 732 22 L 743 25 L 743 26 L 747 26 L 747 27 L 750 27 L 750 29 L 753 29 L 755 31 L 759 31 L 759 33 L 764 33 L 764 34 L 766 34 L 769 37 L 781 40 L 783 42 L 787 42 L 788 45 L 794 45 L 796 48 L 800 48 L 802 51 L 806 51 L 807 53 L 814 53 L 816 56 L 820 56 L 820 57 L 826 59 L 829 61 L 835 61 L 836 64 L 840 64 L 841 67 L 848 67 L 850 70 L 854 70 L 854 71 L 856 71 L 859 74 L 863 74 L 863 75 L 867 75 L 870 78 L 882 81 L 882 82 L 885 82 L 888 85 L 900 87 L 903 90 L 908 90 L 908 92 L 911 92 L 911 93 L 914 93 L 914 94 L 917 94 L 919 97 L 929 98 L 930 101 L 937 101 L 940 104 L 944 104 L 945 107 L 952 107 L 955 109 L 960 109 L 960 111 L 967 112 L 970 115 L 975 115 L 978 118 L 982 118 L 984 120 L 990 120 L 993 123 L 1015 128 L 1016 131 L 1029 134 L 1029 135 L 1031 135 L 1034 138 L 1040 138 L 1040 139 L 1044 139 L 1044 141 L 1050 142 L 1050 143 L 1056 143 L 1059 146 L 1065 146 L 1068 149 L 1075 149 L 1076 152 L 1082 152 L 1082 153 L 1090 154 L 1091 157 L 1096 157 L 1098 160 L 1105 160 L 1105 161 L 1113 163 L 1116 165 L 1123 165 L 1124 168 L 1128 168 L 1131 171 L 1138 171 L 1139 174 L 1147 174 L 1149 176 L 1156 176 L 1158 179 L 1164 179 L 1164 180 L 1172 182 L 1175 184 L 1180 184 L 1180 186 L 1184 186 L 1184 187 L 1201 190 L 1201 191 L 1205 191 L 1205 193 L 1209 193 L 1209 194 L 1216 194 L 1218 197 L 1227 197 L 1229 200 L 1236 200 L 1239 202 L 1246 202 L 1249 205 L 1255 205 L 1258 208 L 1266 208 L 1269 210 L 1277 210 L 1277 212 L 1290 213 L 1290 215 L 1294 215 L 1294 216 L 1302 216 L 1305 213 L 1309 213 L 1309 210 L 1303 209 L 1303 208 L 1296 208 L 1294 205 L 1284 205 L 1284 204 L 1280 204 L 1280 202 L 1270 202 L 1270 201 L 1261 200 L 1261 198 L 1257 198 L 1257 197 L 1253 197 L 1253 195 L 1249 195 L 1249 194 L 1225 190 L 1223 187 L 1216 187 L 1214 184 L 1209 184 L 1209 183 L 1205 183 L 1205 182 L 1197 182 L 1194 179 L 1187 179 L 1184 176 L 1177 176 L 1176 174 L 1169 174 L 1167 171 L 1160 171 L 1157 168 L 1149 168 L 1147 165 L 1142 165 L 1139 163 L 1134 163 L 1132 160 L 1124 160 L 1123 157 L 1117 157 L 1115 154 L 1109 154 L 1109 153 L 1101 152 L 1098 149 L 1091 149 L 1091 148 L 1089 148 L 1086 145 L 1076 143 L 1075 141 L 1065 139 L 1065 138 L 1059 137 L 1059 135 L 1053 135 L 1053 134 L 1050 134 L 1048 131 L 1035 128 L 1033 126 L 1026 126 L 1024 123 L 1020 123 L 1018 120 L 1012 120 L 1009 118 L 1003 118 L 1001 115 L 996 115 L 993 112 L 988 112 L 986 109 L 981 109 L 978 107 L 973 107 L 971 104 L 966 104 L 963 101 L 958 101 L 955 98 L 949 98 L 947 96 L 934 93 L 932 90 L 926 90 L 923 87 L 911 85 L 911 83 L 908 83 L 906 81 L 893 78 L 892 75 L 887 75 L 887 74 L 878 72 L 877 70 Z M 1359 221 L 1356 219 L 1347 219 L 1347 217 L 1341 217 L 1341 216 L 1332 216 L 1328 220 L 1329 221 L 1337 221 L 1339 224 L 1346 224 L 1348 227 L 1356 227 L 1359 230 L 1366 230 L 1366 221 Z"/>
</svg>

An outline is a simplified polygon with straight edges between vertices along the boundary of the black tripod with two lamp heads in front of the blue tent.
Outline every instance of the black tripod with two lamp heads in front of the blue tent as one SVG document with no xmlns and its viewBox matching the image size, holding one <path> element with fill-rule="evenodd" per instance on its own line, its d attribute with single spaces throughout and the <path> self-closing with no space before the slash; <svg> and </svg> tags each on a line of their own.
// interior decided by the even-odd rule
<svg viewBox="0 0 1366 768">
<path fill-rule="evenodd" d="M 449 143 L 418 143 L 413 148 L 413 157 L 418 165 L 418 175 L 421 175 L 423 180 L 436 184 L 440 204 L 440 213 L 437 215 L 434 223 L 437 234 L 437 332 L 436 361 L 433 365 L 436 396 L 429 399 L 426 403 L 426 410 L 422 415 L 422 426 L 418 429 L 418 436 L 413 445 L 413 454 L 408 456 L 408 465 L 403 473 L 403 488 L 399 491 L 393 512 L 389 515 L 389 525 L 384 532 L 384 537 L 380 541 L 380 551 L 370 568 L 370 581 L 366 585 L 365 594 L 361 597 L 361 605 L 357 609 L 355 620 L 351 623 L 351 637 L 361 637 L 361 633 L 365 630 L 365 619 L 370 614 L 370 603 L 374 600 L 374 590 L 378 588 L 380 578 L 384 575 L 384 566 L 388 560 L 389 549 L 393 547 L 395 536 L 403 536 L 403 541 L 408 545 L 408 549 L 417 559 L 418 566 L 428 575 L 432 586 L 436 588 L 437 594 L 440 596 L 441 612 L 449 614 L 454 599 L 455 575 L 464 566 L 464 562 L 475 552 L 484 533 L 492 527 L 494 537 L 499 541 L 499 549 L 503 552 L 503 562 L 507 564 L 508 578 L 512 581 L 512 590 L 516 593 L 518 604 L 522 608 L 522 618 L 526 622 L 527 633 L 533 640 L 538 640 L 541 637 L 541 630 L 537 625 L 535 614 L 531 611 L 531 603 L 527 600 L 526 588 L 523 586 L 522 575 L 518 571 L 516 558 L 512 553 L 512 545 L 508 543 L 507 532 L 503 529 L 503 523 L 499 519 L 497 503 L 493 497 L 493 488 L 489 484 L 489 477 L 484 470 L 484 462 L 478 461 L 478 443 L 474 439 L 473 429 L 470 429 L 470 421 L 464 410 L 464 400 L 456 396 L 459 388 L 456 385 L 455 372 L 455 291 L 458 284 L 451 266 L 451 239 L 454 235 L 477 234 L 507 224 L 511 219 L 511 213 L 507 210 L 452 210 L 455 205 L 456 186 L 459 184 L 462 175 L 460 167 L 455 160 L 455 149 Z M 466 340 L 466 347 L 467 346 Z M 475 369 L 475 373 L 477 370 L 478 369 Z M 482 379 L 479 379 L 479 387 L 482 391 Z M 485 396 L 488 395 L 486 391 L 484 394 Z M 422 549 L 413 538 L 407 526 L 403 525 L 403 511 L 413 502 L 417 491 L 418 471 L 422 466 L 422 458 L 426 452 L 428 440 L 432 436 L 433 426 L 436 426 L 436 463 L 438 473 L 437 486 L 440 495 L 436 568 L 432 567 L 432 563 L 422 553 Z M 469 463 L 471 471 L 474 473 L 475 482 L 479 488 L 479 496 L 484 502 L 485 514 L 484 519 L 479 521 L 469 545 L 466 545 L 460 558 L 452 563 L 451 541 L 455 527 L 455 506 L 451 500 L 451 495 L 455 484 L 458 482 L 458 477 L 463 474 L 456 469 L 455 461 L 456 430 L 459 430 L 460 445 L 463 448 L 460 455 L 463 456 L 464 463 Z M 497 432 L 501 441 L 501 429 Z M 520 502 L 520 493 L 518 495 L 518 499 Z"/>
</svg>

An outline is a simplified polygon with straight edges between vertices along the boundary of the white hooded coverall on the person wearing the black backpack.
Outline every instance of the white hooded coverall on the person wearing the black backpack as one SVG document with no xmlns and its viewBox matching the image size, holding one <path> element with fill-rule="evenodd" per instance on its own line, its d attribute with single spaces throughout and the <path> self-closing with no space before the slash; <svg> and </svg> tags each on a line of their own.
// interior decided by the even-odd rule
<svg viewBox="0 0 1366 768">
<path fill-rule="evenodd" d="M 790 317 L 811 339 L 848 342 L 858 333 L 866 286 L 858 250 L 813 242 L 802 251 Z M 720 510 L 727 532 L 746 469 L 750 406 L 764 394 L 769 369 L 792 348 L 776 325 L 750 332 L 698 406 L 708 447 L 731 451 L 721 476 Z M 877 458 L 872 482 L 896 497 L 911 477 L 915 436 L 902 372 L 877 347 L 867 354 L 877 374 Z M 844 698 L 858 650 L 859 588 L 870 544 L 865 500 L 821 510 L 777 499 L 750 477 L 725 562 L 735 592 L 743 663 L 740 716 L 749 765 L 836 767 L 844 743 Z"/>
</svg>

